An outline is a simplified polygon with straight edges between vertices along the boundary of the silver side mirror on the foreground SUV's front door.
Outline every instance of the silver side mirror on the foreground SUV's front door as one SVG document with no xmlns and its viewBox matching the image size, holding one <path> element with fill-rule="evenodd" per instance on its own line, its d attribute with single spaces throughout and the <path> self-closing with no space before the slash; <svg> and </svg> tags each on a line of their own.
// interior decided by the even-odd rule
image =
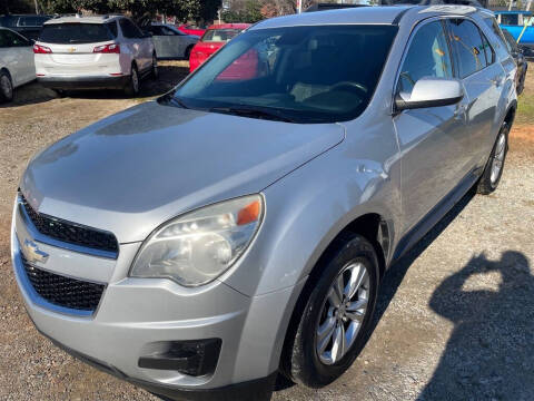
<svg viewBox="0 0 534 401">
<path fill-rule="evenodd" d="M 414 85 L 412 95 L 397 94 L 397 111 L 425 107 L 455 105 L 464 97 L 462 84 L 456 79 L 423 77 Z"/>
</svg>

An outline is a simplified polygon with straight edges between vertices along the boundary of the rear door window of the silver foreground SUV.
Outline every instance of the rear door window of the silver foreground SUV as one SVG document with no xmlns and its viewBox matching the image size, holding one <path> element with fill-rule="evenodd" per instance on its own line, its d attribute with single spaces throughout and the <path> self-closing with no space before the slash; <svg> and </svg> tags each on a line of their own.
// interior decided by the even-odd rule
<svg viewBox="0 0 534 401">
<path fill-rule="evenodd" d="M 458 61 L 459 77 L 465 78 L 486 67 L 481 31 L 466 19 L 449 20 L 451 45 Z"/>
</svg>

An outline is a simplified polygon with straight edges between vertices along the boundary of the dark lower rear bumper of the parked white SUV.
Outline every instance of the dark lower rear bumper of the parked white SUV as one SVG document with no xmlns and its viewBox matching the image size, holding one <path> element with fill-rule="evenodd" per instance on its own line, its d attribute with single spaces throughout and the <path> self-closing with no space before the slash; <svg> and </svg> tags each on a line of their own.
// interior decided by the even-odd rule
<svg viewBox="0 0 534 401">
<path fill-rule="evenodd" d="M 122 89 L 128 85 L 129 76 L 44 76 L 37 81 L 51 89 Z"/>
</svg>

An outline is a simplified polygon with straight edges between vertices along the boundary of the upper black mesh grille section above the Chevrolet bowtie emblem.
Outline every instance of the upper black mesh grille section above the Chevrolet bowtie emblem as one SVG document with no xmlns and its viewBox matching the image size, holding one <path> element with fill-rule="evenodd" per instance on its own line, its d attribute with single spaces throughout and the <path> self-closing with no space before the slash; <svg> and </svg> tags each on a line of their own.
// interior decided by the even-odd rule
<svg viewBox="0 0 534 401">
<path fill-rule="evenodd" d="M 53 218 L 33 211 L 20 195 L 21 203 L 39 233 L 69 244 L 117 253 L 119 245 L 113 234 Z"/>
</svg>

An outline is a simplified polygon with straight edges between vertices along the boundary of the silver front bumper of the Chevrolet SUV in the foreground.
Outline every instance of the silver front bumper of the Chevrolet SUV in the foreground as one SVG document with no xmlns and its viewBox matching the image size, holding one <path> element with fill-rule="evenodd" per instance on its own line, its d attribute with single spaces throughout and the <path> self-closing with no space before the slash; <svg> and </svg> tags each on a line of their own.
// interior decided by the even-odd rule
<svg viewBox="0 0 534 401">
<path fill-rule="evenodd" d="M 227 390 L 235 394 L 271 384 L 287 311 L 293 310 L 299 288 L 249 297 L 218 281 L 186 288 L 168 280 L 131 278 L 128 271 L 140 243 L 121 244 L 117 258 L 109 260 L 49 246 L 33 237 L 29 228 L 16 204 L 11 256 L 28 314 L 43 335 L 75 356 L 149 391 L 178 399 L 206 399 L 210 394 L 222 399 Z M 24 271 L 20 244 L 28 238 L 49 254 L 37 267 L 106 284 L 93 313 L 71 313 L 42 302 Z M 155 344 L 202 339 L 221 341 L 215 371 L 209 374 L 140 368 L 140 358 L 154 353 Z M 250 381 L 258 385 L 249 389 L 241 384 Z"/>
</svg>

